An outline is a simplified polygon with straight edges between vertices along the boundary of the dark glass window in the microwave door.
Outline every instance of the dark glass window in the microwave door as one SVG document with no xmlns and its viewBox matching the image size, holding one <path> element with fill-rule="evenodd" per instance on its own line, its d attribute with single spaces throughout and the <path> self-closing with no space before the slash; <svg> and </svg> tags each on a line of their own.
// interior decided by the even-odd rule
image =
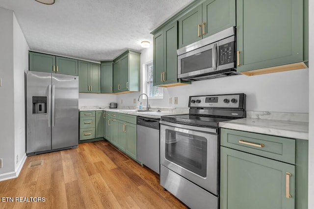
<svg viewBox="0 0 314 209">
<path fill-rule="evenodd" d="M 212 68 L 212 49 L 181 59 L 181 74 Z"/>
</svg>

